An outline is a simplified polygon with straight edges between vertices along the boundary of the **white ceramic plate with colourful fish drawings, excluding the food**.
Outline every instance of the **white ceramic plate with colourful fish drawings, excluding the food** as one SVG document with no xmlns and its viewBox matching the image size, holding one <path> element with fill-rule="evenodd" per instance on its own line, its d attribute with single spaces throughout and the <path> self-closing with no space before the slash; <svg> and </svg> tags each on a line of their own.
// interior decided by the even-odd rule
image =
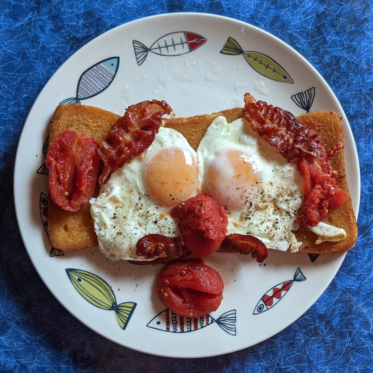
<svg viewBox="0 0 373 373">
<path fill-rule="evenodd" d="M 189 42 L 182 43 L 184 38 Z M 225 50 L 237 54 L 220 53 L 228 38 L 237 44 L 229 39 Z M 247 51 L 251 53 L 241 53 Z M 96 81 L 101 81 L 102 86 Z M 184 332 L 180 332 L 180 319 L 169 313 L 167 332 L 167 312 L 163 312 L 166 307 L 154 291 L 162 265 L 115 263 L 97 248 L 64 255 L 51 248 L 44 229 L 48 195 L 44 142 L 60 102 L 80 100 L 81 104 L 122 115 L 130 104 L 156 98 L 166 100 L 176 115 L 191 116 L 242 106 L 246 92 L 295 115 L 310 109 L 333 110 L 342 117 L 347 178 L 357 214 L 357 153 L 335 95 L 297 52 L 247 23 L 197 13 L 130 22 L 81 48 L 41 91 L 17 152 L 14 189 L 19 228 L 44 283 L 70 313 L 95 332 L 155 355 L 224 354 L 254 345 L 284 329 L 319 298 L 333 279 L 343 254 L 322 255 L 311 261 L 307 254 L 270 251 L 263 266 L 250 257 L 216 253 L 206 262 L 218 270 L 225 283 L 219 309 L 211 313 L 209 320 L 198 319 L 196 324 L 194 320 L 182 320 Z M 298 268 L 306 280 L 297 281 L 302 277 L 299 272 L 295 277 Z M 272 295 L 273 288 L 286 281 L 291 288 L 280 292 L 281 302 L 273 298 L 272 307 L 260 305 L 264 294 Z"/>
</svg>

